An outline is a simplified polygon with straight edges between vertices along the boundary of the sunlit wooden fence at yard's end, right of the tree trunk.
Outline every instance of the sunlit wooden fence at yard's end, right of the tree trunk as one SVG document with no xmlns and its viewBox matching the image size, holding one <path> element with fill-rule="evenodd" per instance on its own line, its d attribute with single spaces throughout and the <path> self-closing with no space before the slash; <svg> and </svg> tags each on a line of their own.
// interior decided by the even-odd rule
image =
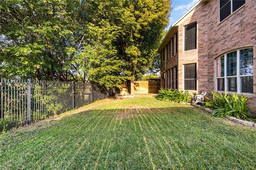
<svg viewBox="0 0 256 170">
<path fill-rule="evenodd" d="M 160 81 L 135 81 L 134 93 L 135 94 L 158 94 L 161 87 Z"/>
</svg>

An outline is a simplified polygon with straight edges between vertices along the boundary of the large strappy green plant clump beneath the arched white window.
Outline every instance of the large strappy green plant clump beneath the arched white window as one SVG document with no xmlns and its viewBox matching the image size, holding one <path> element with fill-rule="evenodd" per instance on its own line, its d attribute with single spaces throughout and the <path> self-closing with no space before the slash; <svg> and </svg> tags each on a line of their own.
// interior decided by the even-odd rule
<svg viewBox="0 0 256 170">
<path fill-rule="evenodd" d="M 246 105 L 247 97 L 243 95 L 239 98 L 237 94 L 233 94 L 231 97 L 228 96 L 228 92 L 217 94 L 212 93 L 212 99 L 207 98 L 205 107 L 214 109 L 213 116 L 226 117 L 234 116 L 236 118 L 243 118 L 244 120 L 249 120 L 247 115 L 249 115 L 250 107 Z"/>
</svg>

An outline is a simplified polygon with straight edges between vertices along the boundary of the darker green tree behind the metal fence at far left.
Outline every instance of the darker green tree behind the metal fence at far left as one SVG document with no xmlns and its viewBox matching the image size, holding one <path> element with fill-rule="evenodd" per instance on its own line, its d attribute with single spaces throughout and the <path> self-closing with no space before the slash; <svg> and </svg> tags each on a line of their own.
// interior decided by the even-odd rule
<svg viewBox="0 0 256 170">
<path fill-rule="evenodd" d="M 80 0 L 0 1 L 0 75 L 69 79 L 90 12 Z"/>
</svg>

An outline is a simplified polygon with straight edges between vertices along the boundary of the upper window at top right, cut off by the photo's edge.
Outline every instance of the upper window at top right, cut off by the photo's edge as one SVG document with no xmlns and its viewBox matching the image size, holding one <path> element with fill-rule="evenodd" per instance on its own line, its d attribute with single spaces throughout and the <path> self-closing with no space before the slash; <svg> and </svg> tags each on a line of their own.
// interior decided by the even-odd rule
<svg viewBox="0 0 256 170">
<path fill-rule="evenodd" d="M 220 21 L 227 18 L 244 4 L 245 0 L 220 0 Z"/>
</svg>

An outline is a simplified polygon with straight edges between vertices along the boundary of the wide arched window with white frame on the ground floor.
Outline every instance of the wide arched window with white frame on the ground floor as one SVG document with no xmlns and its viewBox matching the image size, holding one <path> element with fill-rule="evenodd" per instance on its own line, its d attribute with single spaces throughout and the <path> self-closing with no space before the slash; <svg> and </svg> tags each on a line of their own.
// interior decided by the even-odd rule
<svg viewBox="0 0 256 170">
<path fill-rule="evenodd" d="M 220 56 L 216 62 L 217 91 L 253 93 L 253 49 L 238 49 Z"/>
</svg>

